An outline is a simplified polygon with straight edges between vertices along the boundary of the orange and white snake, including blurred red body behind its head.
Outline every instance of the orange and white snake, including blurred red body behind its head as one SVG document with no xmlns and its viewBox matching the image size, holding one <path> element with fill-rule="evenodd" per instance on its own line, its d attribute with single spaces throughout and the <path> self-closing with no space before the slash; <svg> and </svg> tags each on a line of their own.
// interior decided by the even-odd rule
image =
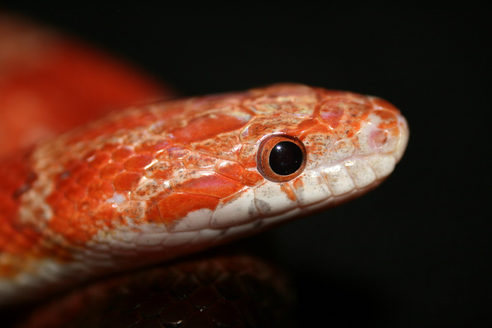
<svg viewBox="0 0 492 328">
<path fill-rule="evenodd" d="M 303 84 L 149 102 L 152 78 L 0 15 L 0 306 L 352 200 L 408 141 L 388 101 Z"/>
</svg>

